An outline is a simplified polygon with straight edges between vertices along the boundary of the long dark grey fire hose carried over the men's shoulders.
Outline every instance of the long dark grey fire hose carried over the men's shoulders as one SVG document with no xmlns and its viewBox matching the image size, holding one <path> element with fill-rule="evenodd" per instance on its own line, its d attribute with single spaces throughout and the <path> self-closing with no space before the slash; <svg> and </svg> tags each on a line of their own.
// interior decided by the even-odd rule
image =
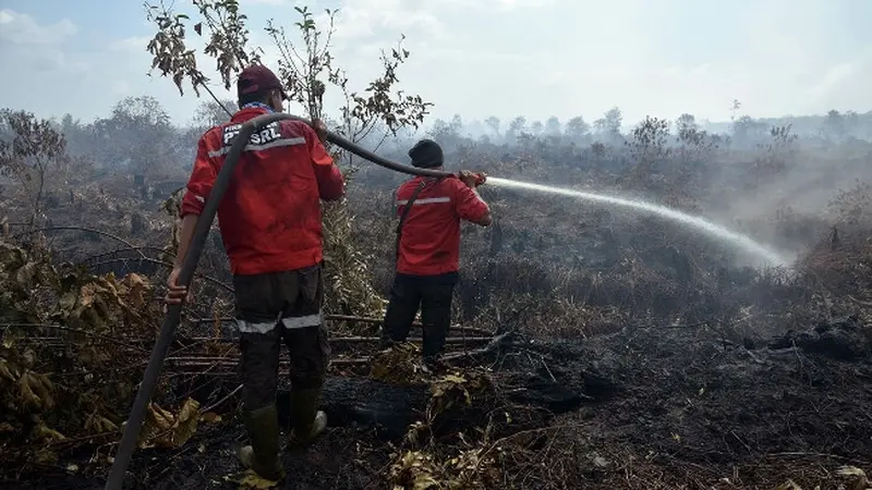
<svg viewBox="0 0 872 490">
<path fill-rule="evenodd" d="M 191 244 L 189 245 L 187 254 L 182 265 L 182 270 L 179 273 L 179 285 L 187 286 L 191 284 L 191 280 L 194 277 L 194 270 L 197 267 L 197 261 L 199 261 L 199 256 L 203 253 L 203 247 L 206 243 L 206 236 L 211 228 L 215 215 L 218 211 L 218 205 L 220 204 L 221 197 L 223 197 L 223 194 L 230 184 L 233 170 L 239 163 L 240 157 L 245 150 L 245 146 L 249 144 L 250 136 L 255 132 L 265 128 L 267 125 L 282 120 L 301 121 L 310 124 L 307 120 L 295 115 L 269 113 L 251 119 L 242 124 L 242 127 L 240 127 L 238 135 L 230 146 L 230 152 L 225 158 L 225 162 L 221 166 L 221 169 L 218 171 L 218 175 L 215 179 L 215 184 L 213 185 L 211 192 L 209 193 L 205 207 L 203 208 L 203 212 L 201 213 L 196 226 L 194 228 L 194 234 L 191 238 Z M 393 162 L 386 158 L 379 157 L 378 155 L 375 155 L 374 152 L 366 150 L 346 139 L 344 137 L 331 132 L 327 132 L 326 139 L 361 158 L 397 172 L 429 177 L 447 177 L 453 175 L 451 172 L 419 169 L 415 167 Z M 140 430 L 142 429 L 143 421 L 145 420 L 148 403 L 152 399 L 155 387 L 157 385 L 157 380 L 160 376 L 164 359 L 166 358 L 170 344 L 172 343 L 173 334 L 175 333 L 175 329 L 181 320 L 181 313 L 182 304 L 168 305 L 167 316 L 164 319 L 162 326 L 160 327 L 160 333 L 158 334 L 155 346 L 152 350 L 152 357 L 148 359 L 148 365 L 145 368 L 143 381 L 140 383 L 140 390 L 136 392 L 136 399 L 133 402 L 130 416 L 124 425 L 121 442 L 119 444 L 118 452 L 116 453 L 112 468 L 109 470 L 109 476 L 106 480 L 106 490 L 122 489 L 124 475 L 131 457 L 133 456 L 133 452 L 136 449 L 136 442 L 140 437 Z"/>
</svg>

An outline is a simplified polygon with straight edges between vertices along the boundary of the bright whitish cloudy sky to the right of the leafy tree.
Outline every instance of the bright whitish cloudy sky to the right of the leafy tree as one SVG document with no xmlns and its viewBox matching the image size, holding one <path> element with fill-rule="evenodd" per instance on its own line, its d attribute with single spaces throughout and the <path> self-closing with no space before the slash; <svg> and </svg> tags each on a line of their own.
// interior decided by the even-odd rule
<svg viewBox="0 0 872 490">
<path fill-rule="evenodd" d="M 839 9 L 801 3 L 809 5 L 738 2 L 726 12 L 688 0 L 346 0 L 335 54 L 353 82 L 365 82 L 378 74 L 379 50 L 407 34 L 412 58 L 401 84 L 436 101 L 441 118 L 470 108 L 480 118 L 595 119 L 619 106 L 633 124 L 686 111 L 725 120 L 732 98 L 752 115 L 869 99 L 833 88 L 861 76 L 836 65 L 862 65 L 853 53 L 833 58 Z M 706 22 L 734 27 L 708 33 Z"/>
</svg>

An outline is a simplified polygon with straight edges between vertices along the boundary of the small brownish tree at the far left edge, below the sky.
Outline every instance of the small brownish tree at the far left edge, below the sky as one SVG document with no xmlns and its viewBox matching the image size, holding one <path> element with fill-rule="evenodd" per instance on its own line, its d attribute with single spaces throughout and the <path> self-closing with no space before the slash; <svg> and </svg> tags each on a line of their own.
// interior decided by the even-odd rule
<svg viewBox="0 0 872 490">
<path fill-rule="evenodd" d="M 0 173 L 13 177 L 27 197 L 31 224 L 43 213 L 47 176 L 69 163 L 66 140 L 51 121 L 39 120 L 25 111 L 0 111 Z"/>
</svg>

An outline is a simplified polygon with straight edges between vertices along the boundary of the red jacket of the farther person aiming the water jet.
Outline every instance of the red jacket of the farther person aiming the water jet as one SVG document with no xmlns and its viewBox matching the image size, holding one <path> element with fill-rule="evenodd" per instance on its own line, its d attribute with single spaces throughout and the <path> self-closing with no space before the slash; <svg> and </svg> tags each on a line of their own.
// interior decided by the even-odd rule
<svg viewBox="0 0 872 490">
<path fill-rule="evenodd" d="M 397 191 L 397 215 L 402 216 L 421 181 L 414 177 Z M 460 220 L 479 221 L 487 204 L 460 179 L 427 179 L 403 223 L 397 272 L 437 275 L 460 269 Z"/>
</svg>

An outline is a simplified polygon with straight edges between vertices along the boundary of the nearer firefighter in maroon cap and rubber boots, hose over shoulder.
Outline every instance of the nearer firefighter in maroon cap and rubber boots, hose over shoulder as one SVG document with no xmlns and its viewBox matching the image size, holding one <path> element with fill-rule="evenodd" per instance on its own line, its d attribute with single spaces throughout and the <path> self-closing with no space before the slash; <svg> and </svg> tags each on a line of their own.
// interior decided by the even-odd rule
<svg viewBox="0 0 872 490">
<path fill-rule="evenodd" d="M 199 138 L 182 201 L 179 254 L 167 303 L 180 303 L 187 295 L 175 281 L 197 217 L 240 126 L 283 110 L 281 83 L 265 66 L 246 68 L 237 89 L 240 110 L 229 123 Z M 291 358 L 290 442 L 307 444 L 327 425 L 325 414 L 317 411 L 330 356 L 320 309 L 319 199 L 341 198 L 344 182 L 324 147 L 324 125 L 314 125 L 317 132 L 301 122 L 278 121 L 252 135 L 218 208 L 233 273 L 242 396 L 252 442 L 240 449 L 239 457 L 268 480 L 284 477 L 276 411 L 282 341 Z"/>
</svg>

